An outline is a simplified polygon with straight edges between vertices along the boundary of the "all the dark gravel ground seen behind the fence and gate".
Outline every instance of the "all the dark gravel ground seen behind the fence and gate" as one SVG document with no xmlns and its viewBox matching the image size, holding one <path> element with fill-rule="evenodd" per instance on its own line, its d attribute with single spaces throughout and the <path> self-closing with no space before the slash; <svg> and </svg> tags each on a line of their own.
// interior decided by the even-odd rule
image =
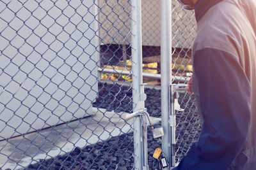
<svg viewBox="0 0 256 170">
<path fill-rule="evenodd" d="M 161 117 L 161 91 L 145 89 L 147 100 L 145 107 L 151 117 Z M 189 147 L 198 138 L 200 132 L 200 120 L 195 107 L 195 97 L 181 94 L 179 97 L 181 108 L 185 110 L 177 112 L 177 160 L 179 161 Z M 116 112 L 132 111 L 131 87 L 120 85 L 99 84 L 99 97 L 93 103 L 93 107 L 106 108 Z M 154 127 L 160 127 L 160 124 Z M 31 164 L 27 169 L 133 169 L 133 134 L 122 134 L 108 141 L 102 141 L 84 148 L 75 148 L 74 151 L 54 159 L 40 160 L 37 164 Z M 148 129 L 148 165 L 154 168 L 154 150 L 161 147 L 157 139 L 153 139 L 152 132 Z"/>
</svg>

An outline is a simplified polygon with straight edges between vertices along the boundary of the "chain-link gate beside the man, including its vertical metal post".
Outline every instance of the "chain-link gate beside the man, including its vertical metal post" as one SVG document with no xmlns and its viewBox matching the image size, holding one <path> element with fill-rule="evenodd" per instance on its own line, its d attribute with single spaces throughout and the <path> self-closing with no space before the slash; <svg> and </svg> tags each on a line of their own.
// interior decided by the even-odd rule
<svg viewBox="0 0 256 170">
<path fill-rule="evenodd" d="M 193 74 L 195 35 L 193 11 L 184 10 L 178 1 L 161 1 L 161 147 L 170 167 L 188 153 L 200 133 L 195 96 L 184 89 Z"/>
</svg>

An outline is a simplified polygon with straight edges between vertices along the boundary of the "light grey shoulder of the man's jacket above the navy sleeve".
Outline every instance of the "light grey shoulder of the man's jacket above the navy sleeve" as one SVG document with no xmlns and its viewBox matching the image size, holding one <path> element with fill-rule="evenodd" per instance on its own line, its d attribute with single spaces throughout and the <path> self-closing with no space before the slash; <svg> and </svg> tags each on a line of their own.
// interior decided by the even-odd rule
<svg viewBox="0 0 256 170">
<path fill-rule="evenodd" d="M 235 4 L 223 1 L 212 6 L 198 22 L 193 50 L 214 48 L 237 55 L 236 45 L 231 41 L 239 43 L 237 41 L 237 35 L 241 34 L 241 28 L 237 27 L 239 22 L 243 20 L 241 20 L 241 11 Z"/>
</svg>

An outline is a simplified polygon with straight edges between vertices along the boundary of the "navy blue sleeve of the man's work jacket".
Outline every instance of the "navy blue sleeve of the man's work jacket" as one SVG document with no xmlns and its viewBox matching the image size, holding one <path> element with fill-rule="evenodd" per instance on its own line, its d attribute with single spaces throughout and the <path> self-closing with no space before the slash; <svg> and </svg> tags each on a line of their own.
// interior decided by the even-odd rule
<svg viewBox="0 0 256 170">
<path fill-rule="evenodd" d="M 250 129 L 250 82 L 237 58 L 221 50 L 196 51 L 193 65 L 202 131 L 174 169 L 227 169 Z"/>
</svg>

